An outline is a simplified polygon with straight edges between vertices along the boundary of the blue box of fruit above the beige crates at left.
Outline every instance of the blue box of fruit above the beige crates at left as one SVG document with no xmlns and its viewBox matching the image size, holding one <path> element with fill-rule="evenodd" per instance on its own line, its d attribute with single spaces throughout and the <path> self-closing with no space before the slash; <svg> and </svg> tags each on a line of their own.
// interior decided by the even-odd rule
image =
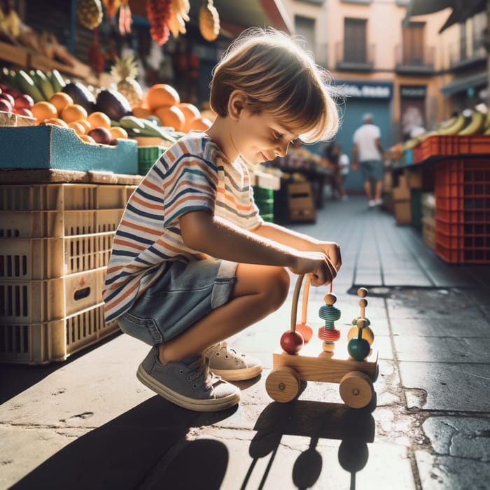
<svg viewBox="0 0 490 490">
<path fill-rule="evenodd" d="M 118 139 L 116 146 L 88 144 L 73 130 L 55 125 L 0 127 L 0 167 L 137 174 L 137 143 Z"/>
</svg>

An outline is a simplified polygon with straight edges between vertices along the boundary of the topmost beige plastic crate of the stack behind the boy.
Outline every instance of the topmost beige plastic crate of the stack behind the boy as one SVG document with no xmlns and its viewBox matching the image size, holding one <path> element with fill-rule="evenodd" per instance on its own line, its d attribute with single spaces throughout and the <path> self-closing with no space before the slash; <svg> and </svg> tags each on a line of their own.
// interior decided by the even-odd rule
<svg viewBox="0 0 490 490">
<path fill-rule="evenodd" d="M 120 209 L 137 186 L 48 183 L 0 186 L 0 211 Z"/>
</svg>

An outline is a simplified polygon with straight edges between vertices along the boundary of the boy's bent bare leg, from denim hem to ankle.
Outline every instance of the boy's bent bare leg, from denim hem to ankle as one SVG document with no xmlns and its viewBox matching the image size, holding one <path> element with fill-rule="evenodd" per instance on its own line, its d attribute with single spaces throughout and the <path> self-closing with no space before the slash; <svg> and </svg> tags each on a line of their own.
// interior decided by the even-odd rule
<svg viewBox="0 0 490 490">
<path fill-rule="evenodd" d="M 160 361 L 199 355 L 276 311 L 288 295 L 289 275 L 282 267 L 239 264 L 230 301 L 174 339 L 160 344 Z"/>
</svg>

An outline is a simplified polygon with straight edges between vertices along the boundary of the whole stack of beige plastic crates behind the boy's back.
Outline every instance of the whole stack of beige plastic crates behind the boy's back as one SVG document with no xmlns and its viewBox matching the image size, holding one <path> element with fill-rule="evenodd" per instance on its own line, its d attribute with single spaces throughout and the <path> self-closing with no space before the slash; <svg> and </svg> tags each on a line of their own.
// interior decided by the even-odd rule
<svg viewBox="0 0 490 490">
<path fill-rule="evenodd" d="M 0 362 L 41 364 L 116 332 L 102 290 L 136 186 L 0 186 Z"/>
</svg>

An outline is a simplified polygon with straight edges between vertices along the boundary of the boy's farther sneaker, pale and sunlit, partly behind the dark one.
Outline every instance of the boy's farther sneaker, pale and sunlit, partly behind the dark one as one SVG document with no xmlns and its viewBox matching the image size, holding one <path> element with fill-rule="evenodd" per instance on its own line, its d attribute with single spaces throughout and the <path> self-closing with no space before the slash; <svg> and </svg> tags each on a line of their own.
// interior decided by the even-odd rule
<svg viewBox="0 0 490 490">
<path fill-rule="evenodd" d="M 204 356 L 209 359 L 209 369 L 226 381 L 255 378 L 264 368 L 260 360 L 237 352 L 227 342 L 209 347 Z"/>
</svg>

